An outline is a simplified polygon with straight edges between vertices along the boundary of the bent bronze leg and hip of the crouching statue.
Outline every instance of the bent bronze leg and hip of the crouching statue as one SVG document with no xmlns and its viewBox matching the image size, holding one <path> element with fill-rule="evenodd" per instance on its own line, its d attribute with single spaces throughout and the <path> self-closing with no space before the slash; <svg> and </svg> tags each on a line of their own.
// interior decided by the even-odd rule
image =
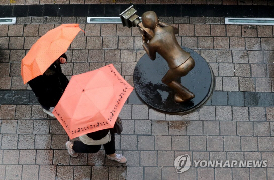
<svg viewBox="0 0 274 180">
<path fill-rule="evenodd" d="M 191 57 L 190 57 L 191 58 Z M 195 95 L 189 91 L 186 87 L 182 86 L 180 83 L 175 81 L 176 79 L 185 76 L 188 72 L 193 69 L 195 63 L 194 60 L 188 59 L 185 63 L 181 64 L 179 67 L 174 69 L 169 69 L 165 76 L 162 78 L 162 82 L 169 86 L 170 88 L 176 91 L 175 94 L 175 102 L 181 103 L 184 101 L 191 100 L 195 97 Z"/>
</svg>

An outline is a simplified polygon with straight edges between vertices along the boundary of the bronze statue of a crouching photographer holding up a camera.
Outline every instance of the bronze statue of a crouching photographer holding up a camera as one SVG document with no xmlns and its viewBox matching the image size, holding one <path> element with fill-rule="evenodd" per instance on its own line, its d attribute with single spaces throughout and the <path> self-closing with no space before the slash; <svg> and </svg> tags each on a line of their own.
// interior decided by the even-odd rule
<svg viewBox="0 0 274 180">
<path fill-rule="evenodd" d="M 175 102 L 182 103 L 193 99 L 195 95 L 176 81 L 187 75 L 195 66 L 193 58 L 188 52 L 182 50 L 176 40 L 175 34 L 179 33 L 178 28 L 159 22 L 154 11 L 145 12 L 142 15 L 142 22 L 135 13 L 136 10 L 132 6 L 121 13 L 123 25 L 139 27 L 143 47 L 151 60 L 155 60 L 156 52 L 166 60 L 170 69 L 162 78 L 162 82 L 175 90 Z"/>
</svg>

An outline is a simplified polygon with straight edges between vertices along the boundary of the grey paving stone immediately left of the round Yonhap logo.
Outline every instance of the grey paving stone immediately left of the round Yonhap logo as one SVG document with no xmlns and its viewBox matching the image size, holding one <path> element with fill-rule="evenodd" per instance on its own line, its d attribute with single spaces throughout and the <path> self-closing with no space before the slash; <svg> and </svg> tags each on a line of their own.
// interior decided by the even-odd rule
<svg viewBox="0 0 274 180">
<path fill-rule="evenodd" d="M 174 166 L 174 151 L 158 151 L 158 166 L 173 167 Z"/>
</svg>

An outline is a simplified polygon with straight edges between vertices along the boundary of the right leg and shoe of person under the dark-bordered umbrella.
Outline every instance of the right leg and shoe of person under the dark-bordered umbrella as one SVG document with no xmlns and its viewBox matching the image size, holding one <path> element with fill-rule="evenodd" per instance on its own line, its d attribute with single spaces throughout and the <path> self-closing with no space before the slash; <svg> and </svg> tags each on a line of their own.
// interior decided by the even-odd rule
<svg viewBox="0 0 274 180">
<path fill-rule="evenodd" d="M 115 136 L 114 133 L 111 133 L 111 141 L 104 144 L 104 149 L 107 154 L 108 159 L 115 160 L 119 163 L 126 163 L 127 159 L 122 154 L 115 153 Z"/>
</svg>

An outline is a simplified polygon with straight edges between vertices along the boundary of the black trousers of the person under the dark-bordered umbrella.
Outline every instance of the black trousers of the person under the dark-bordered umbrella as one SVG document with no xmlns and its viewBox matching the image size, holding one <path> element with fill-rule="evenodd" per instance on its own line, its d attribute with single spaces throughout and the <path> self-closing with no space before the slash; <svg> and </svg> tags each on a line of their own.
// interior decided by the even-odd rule
<svg viewBox="0 0 274 180">
<path fill-rule="evenodd" d="M 108 155 L 115 153 L 115 136 L 113 132 L 110 132 L 110 133 L 111 133 L 111 141 L 106 144 L 103 144 L 105 153 Z M 81 141 L 74 141 L 72 148 L 75 152 L 79 152 L 79 153 L 96 153 L 100 150 L 101 146 L 102 145 L 92 146 L 92 145 L 84 144 Z"/>
</svg>

